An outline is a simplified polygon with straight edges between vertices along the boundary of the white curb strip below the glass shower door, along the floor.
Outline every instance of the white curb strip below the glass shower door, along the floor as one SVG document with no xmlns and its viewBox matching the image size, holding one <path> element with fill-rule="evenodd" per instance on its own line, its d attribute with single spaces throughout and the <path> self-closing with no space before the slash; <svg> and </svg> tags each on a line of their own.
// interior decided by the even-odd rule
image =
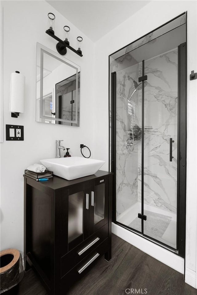
<svg viewBox="0 0 197 295">
<path fill-rule="evenodd" d="M 184 273 L 184 259 L 112 222 L 112 233 L 163 262 L 179 273 Z M 189 284 L 189 283 L 188 283 Z"/>
</svg>

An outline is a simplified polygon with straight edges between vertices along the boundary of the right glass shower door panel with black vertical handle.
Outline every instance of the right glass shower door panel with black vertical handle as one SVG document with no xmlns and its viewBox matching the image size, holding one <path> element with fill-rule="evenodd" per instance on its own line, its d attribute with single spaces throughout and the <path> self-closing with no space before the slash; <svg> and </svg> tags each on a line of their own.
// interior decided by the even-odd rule
<svg viewBox="0 0 197 295">
<path fill-rule="evenodd" d="M 178 48 L 146 60 L 144 74 L 143 234 L 176 249 Z"/>
</svg>

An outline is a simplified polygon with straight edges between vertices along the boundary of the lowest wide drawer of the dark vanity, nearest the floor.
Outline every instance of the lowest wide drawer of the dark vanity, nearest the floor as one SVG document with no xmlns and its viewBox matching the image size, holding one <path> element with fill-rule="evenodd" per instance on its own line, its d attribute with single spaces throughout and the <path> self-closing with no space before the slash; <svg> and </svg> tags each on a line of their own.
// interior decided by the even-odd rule
<svg viewBox="0 0 197 295">
<path fill-rule="evenodd" d="M 108 238 L 98 245 L 89 255 L 87 255 L 81 262 L 61 278 L 61 295 L 65 294 L 75 281 L 79 280 L 83 274 L 87 273 L 91 266 L 103 256 L 108 250 Z M 107 262 L 106 262 L 107 263 Z"/>
</svg>

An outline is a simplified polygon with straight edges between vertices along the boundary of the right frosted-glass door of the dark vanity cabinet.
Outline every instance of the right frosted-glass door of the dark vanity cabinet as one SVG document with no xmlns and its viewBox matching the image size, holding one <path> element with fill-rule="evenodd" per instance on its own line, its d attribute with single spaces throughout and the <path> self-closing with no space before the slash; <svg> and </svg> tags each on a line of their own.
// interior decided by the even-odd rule
<svg viewBox="0 0 197 295">
<path fill-rule="evenodd" d="M 90 183 L 90 234 L 107 223 L 109 183 L 107 178 Z"/>
</svg>

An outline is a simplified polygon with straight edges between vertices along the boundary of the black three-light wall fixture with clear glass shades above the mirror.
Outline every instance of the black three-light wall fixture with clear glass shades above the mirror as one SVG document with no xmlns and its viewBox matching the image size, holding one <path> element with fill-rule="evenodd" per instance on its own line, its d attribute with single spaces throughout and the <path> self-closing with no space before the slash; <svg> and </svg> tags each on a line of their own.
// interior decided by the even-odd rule
<svg viewBox="0 0 197 295">
<path fill-rule="evenodd" d="M 58 38 L 54 34 L 55 15 L 53 13 L 48 13 L 48 18 L 49 18 L 49 29 L 46 30 L 46 33 L 49 36 L 51 36 L 52 38 L 54 38 L 55 40 L 58 41 L 58 43 L 56 45 L 56 49 L 57 49 L 58 53 L 61 54 L 61 55 L 65 55 L 66 52 L 67 52 L 66 48 L 69 48 L 74 53 L 76 53 L 76 54 L 78 54 L 79 56 L 82 57 L 83 55 L 82 55 L 82 51 L 81 51 L 81 45 L 79 45 L 79 44 L 81 44 L 83 38 L 82 37 L 77 37 L 78 50 L 75 50 L 73 47 L 70 46 L 70 43 L 69 43 L 70 27 L 69 26 L 64 26 L 64 38 L 65 38 L 65 40 L 62 41 L 60 38 Z M 79 38 L 79 40 L 78 40 L 78 38 Z"/>
</svg>

